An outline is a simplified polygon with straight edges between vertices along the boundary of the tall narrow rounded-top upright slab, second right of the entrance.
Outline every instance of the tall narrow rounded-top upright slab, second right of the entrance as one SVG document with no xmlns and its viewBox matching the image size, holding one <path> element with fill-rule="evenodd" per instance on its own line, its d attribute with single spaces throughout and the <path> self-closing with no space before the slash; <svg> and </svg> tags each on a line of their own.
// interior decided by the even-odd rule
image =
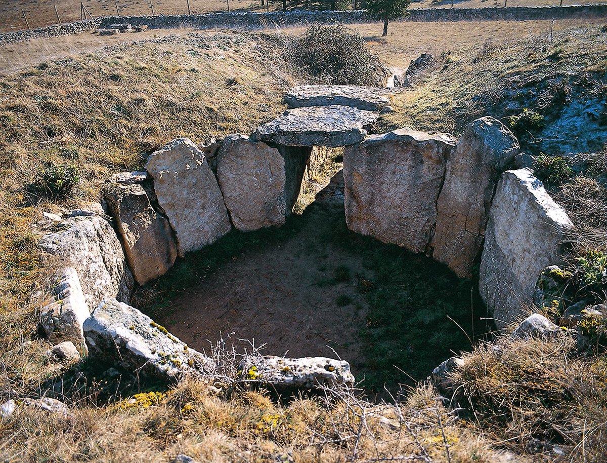
<svg viewBox="0 0 607 463">
<path fill-rule="evenodd" d="M 492 117 L 470 123 L 451 151 L 438 197 L 433 257 L 460 278 L 470 276 L 483 246 L 498 177 L 517 151 L 514 134 Z"/>
</svg>

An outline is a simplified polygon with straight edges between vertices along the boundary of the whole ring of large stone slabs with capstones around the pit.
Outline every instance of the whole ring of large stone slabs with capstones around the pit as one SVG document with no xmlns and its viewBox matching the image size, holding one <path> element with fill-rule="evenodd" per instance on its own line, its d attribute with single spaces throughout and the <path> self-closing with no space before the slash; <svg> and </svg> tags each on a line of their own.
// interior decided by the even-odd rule
<svg viewBox="0 0 607 463">
<path fill-rule="evenodd" d="M 209 374 L 211 358 L 127 305 L 133 289 L 232 229 L 284 224 L 302 179 L 323 162 L 319 146 L 345 146 L 348 228 L 433 256 L 462 278 L 480 266 L 480 294 L 500 328 L 531 303 L 544 267 L 560 263 L 571 221 L 530 170 L 507 170 L 518 142 L 500 121 L 480 118 L 459 140 L 410 129 L 369 135 L 390 110 L 388 91 L 302 86 L 285 101 L 290 109 L 251 136 L 172 140 L 145 171 L 110 179 L 104 208 L 53 218 L 60 231 L 40 245 L 66 268 L 42 314 L 51 340 L 166 380 Z M 341 360 L 247 362 L 243 380 L 275 388 L 354 382 Z"/>
</svg>

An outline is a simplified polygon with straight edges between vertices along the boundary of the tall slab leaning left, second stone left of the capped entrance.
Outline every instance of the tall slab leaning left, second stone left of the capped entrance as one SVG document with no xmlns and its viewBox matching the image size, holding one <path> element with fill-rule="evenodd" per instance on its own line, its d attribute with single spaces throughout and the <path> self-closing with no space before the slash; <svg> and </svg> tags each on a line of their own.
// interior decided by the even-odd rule
<svg viewBox="0 0 607 463">
<path fill-rule="evenodd" d="M 156 151 L 146 170 L 175 230 L 179 255 L 202 249 L 231 230 L 217 180 L 192 140 L 175 139 Z"/>
</svg>

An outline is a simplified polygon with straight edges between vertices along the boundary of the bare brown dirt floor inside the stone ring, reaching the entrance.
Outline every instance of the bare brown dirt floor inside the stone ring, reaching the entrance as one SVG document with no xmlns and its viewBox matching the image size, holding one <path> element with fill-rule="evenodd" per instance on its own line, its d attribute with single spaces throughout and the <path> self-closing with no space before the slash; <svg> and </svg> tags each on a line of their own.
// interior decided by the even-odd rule
<svg viewBox="0 0 607 463">
<path fill-rule="evenodd" d="M 237 339 L 254 340 L 266 345 L 265 354 L 335 357 L 335 349 L 356 373 L 364 366 L 357 333 L 367 307 L 348 275 L 365 273 L 363 259 L 328 238 L 344 217 L 342 191 L 340 171 L 307 208 L 296 235 L 220 267 L 158 321 L 195 349 L 232 332 L 228 343 L 245 348 L 248 342 Z"/>
</svg>

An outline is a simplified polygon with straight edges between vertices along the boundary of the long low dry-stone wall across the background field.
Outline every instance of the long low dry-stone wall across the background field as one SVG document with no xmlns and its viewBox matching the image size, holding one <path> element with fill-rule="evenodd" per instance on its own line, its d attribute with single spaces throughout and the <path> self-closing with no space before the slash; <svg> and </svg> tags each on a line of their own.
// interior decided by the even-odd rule
<svg viewBox="0 0 607 463">
<path fill-rule="evenodd" d="M 514 8 L 436 8 L 411 10 L 404 21 L 526 21 L 538 19 L 605 18 L 607 5 L 571 5 L 565 7 L 514 7 Z M 110 24 L 128 22 L 150 29 L 264 29 L 266 27 L 294 26 L 299 24 L 352 24 L 367 22 L 364 10 L 350 11 L 308 11 L 288 12 L 231 12 L 208 13 L 206 15 L 168 16 L 106 16 L 87 21 L 72 22 L 63 26 L 39 27 L 33 30 L 18 30 L 0 34 L 0 46 L 36 38 L 75 35 L 82 32 L 107 27 Z"/>
</svg>

